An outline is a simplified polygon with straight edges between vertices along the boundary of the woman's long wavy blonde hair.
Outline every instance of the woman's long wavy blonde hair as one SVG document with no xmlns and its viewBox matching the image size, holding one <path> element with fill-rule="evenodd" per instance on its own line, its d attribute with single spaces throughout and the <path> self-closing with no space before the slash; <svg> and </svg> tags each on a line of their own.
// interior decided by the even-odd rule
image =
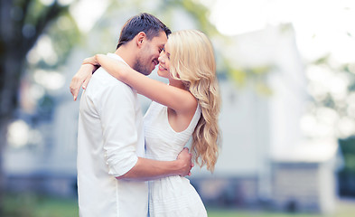
<svg viewBox="0 0 355 217">
<path fill-rule="evenodd" d="M 212 44 L 197 30 L 172 33 L 168 43 L 173 79 L 182 80 L 201 107 L 201 118 L 192 134 L 193 159 L 213 172 L 220 146 L 220 92 Z"/>
</svg>

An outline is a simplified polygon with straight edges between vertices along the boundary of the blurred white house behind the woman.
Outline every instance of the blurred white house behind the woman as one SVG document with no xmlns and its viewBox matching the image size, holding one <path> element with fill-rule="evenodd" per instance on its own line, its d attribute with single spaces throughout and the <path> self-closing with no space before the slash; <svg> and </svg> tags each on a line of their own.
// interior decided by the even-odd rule
<svg viewBox="0 0 355 217">
<path fill-rule="evenodd" d="M 301 130 L 308 96 L 292 26 L 269 26 L 233 42 L 226 52 L 236 66 L 272 65 L 265 81 L 273 93 L 220 80 L 220 159 L 213 175 L 195 169 L 192 184 L 205 203 L 334 211 L 338 144 L 334 137 L 305 137 Z"/>
</svg>

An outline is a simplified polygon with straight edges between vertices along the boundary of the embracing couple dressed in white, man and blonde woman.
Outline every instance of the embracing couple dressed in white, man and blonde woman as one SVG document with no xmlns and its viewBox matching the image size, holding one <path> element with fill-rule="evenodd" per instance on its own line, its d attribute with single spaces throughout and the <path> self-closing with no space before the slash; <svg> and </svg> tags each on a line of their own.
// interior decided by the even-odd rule
<svg viewBox="0 0 355 217">
<path fill-rule="evenodd" d="M 158 64 L 169 85 L 145 76 Z M 115 53 L 84 60 L 70 83 L 74 100 L 81 85 L 79 215 L 207 216 L 184 177 L 192 162 L 212 172 L 218 157 L 220 96 L 206 35 L 171 33 L 154 15 L 138 14 Z M 153 100 L 144 123 L 137 93 Z M 191 137 L 192 155 L 184 148 Z"/>
</svg>

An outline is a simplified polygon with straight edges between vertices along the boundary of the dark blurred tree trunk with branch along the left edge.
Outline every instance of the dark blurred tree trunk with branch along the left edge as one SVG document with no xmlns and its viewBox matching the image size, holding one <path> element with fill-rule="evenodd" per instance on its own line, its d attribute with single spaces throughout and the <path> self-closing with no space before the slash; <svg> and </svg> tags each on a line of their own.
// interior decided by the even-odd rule
<svg viewBox="0 0 355 217">
<path fill-rule="evenodd" d="M 53 27 L 55 20 L 69 15 L 68 8 L 56 0 L 50 5 L 43 5 L 39 0 L 0 1 L 0 215 L 4 193 L 2 151 L 8 124 L 18 108 L 20 82 L 27 67 L 26 55 L 43 33 L 72 34 L 71 30 Z M 70 47 L 66 47 L 68 50 Z"/>
</svg>

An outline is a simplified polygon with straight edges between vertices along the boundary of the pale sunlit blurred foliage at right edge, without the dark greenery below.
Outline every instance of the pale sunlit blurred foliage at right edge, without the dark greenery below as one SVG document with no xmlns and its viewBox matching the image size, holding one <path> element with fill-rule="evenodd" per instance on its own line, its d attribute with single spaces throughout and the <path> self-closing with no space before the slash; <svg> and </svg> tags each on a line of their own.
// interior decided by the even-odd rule
<svg viewBox="0 0 355 217">
<path fill-rule="evenodd" d="M 310 79 L 309 92 L 312 97 L 313 115 L 316 117 L 318 109 L 327 108 L 336 113 L 334 118 L 333 136 L 341 139 L 351 137 L 355 131 L 355 110 L 353 98 L 355 96 L 355 70 L 353 63 L 336 63 L 330 55 L 325 55 L 318 60 L 310 62 L 307 67 L 307 76 L 318 79 Z M 319 117 L 327 118 L 327 117 Z M 342 127 L 344 120 L 347 126 Z M 350 121 L 349 121 L 350 120 Z M 322 121 L 322 120 L 319 120 Z M 349 126 L 352 122 L 352 126 Z M 344 130 L 348 128 L 349 130 Z"/>
</svg>

